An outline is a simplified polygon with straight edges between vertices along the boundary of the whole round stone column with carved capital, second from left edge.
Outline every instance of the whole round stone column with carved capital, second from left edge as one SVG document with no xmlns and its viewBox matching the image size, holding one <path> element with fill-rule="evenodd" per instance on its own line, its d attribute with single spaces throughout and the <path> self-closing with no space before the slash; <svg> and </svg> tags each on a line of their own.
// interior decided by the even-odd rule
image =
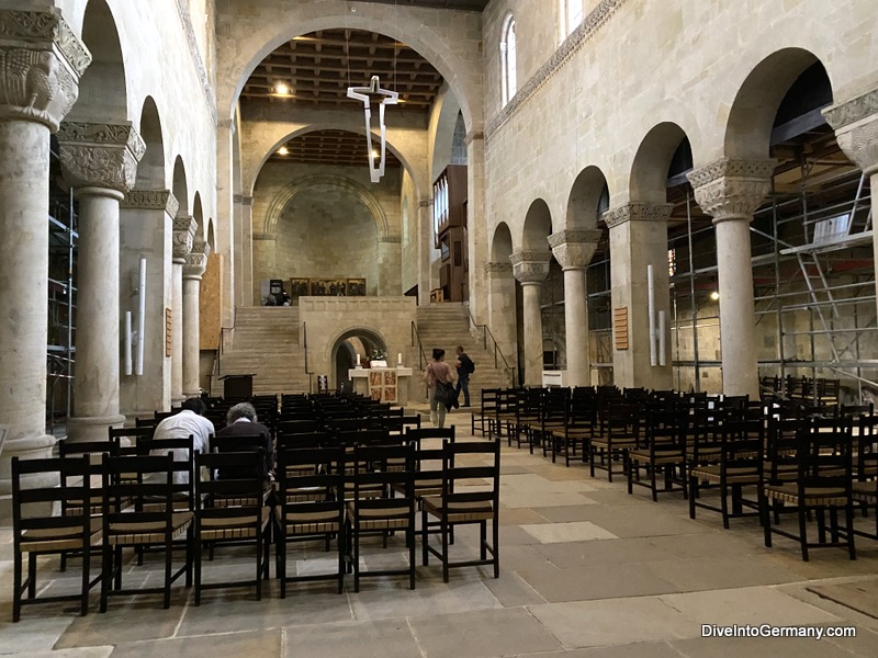
<svg viewBox="0 0 878 658">
<path fill-rule="evenodd" d="M 134 186 L 146 145 L 130 124 L 65 122 L 64 175 L 79 197 L 79 259 L 71 441 L 105 441 L 119 412 L 119 202 Z"/>
</svg>

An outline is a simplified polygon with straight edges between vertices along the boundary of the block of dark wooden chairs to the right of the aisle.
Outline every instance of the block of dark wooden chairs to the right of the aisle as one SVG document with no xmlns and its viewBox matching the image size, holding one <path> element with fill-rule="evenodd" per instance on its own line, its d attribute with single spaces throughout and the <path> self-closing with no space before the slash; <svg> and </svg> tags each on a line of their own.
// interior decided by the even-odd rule
<svg viewBox="0 0 878 658">
<path fill-rule="evenodd" d="M 564 455 L 570 465 L 578 455 L 593 477 L 599 469 L 610 481 L 621 475 L 629 492 L 638 485 L 653 500 L 682 492 L 693 518 L 696 509 L 716 510 L 729 527 L 730 519 L 756 515 L 766 545 L 786 533 L 806 560 L 809 547 L 845 546 L 854 557 L 854 535 L 878 538 L 878 521 L 871 532 L 852 520 L 855 507 L 878 507 L 876 424 L 871 406 L 587 387 L 487 390 L 473 420 L 474 431 L 506 433 L 510 444 L 542 447 L 553 461 Z M 711 488 L 718 502 L 707 495 Z M 798 512 L 798 534 L 778 526 L 785 510 Z M 814 515 L 820 541 L 812 543 L 806 521 Z"/>
</svg>

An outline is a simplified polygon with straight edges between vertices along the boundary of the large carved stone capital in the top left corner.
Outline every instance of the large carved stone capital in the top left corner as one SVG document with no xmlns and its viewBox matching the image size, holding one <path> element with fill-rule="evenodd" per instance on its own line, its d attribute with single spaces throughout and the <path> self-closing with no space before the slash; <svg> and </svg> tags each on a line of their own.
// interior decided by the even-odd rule
<svg viewBox="0 0 878 658">
<path fill-rule="evenodd" d="M 57 9 L 0 9 L 0 120 L 57 131 L 79 94 L 91 54 Z"/>
</svg>

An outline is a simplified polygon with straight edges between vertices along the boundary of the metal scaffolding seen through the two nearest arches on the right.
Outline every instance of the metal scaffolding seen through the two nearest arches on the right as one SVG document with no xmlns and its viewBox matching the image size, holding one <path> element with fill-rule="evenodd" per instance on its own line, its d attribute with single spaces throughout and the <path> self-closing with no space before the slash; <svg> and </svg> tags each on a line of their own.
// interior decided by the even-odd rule
<svg viewBox="0 0 878 658">
<path fill-rule="evenodd" d="M 813 175 L 821 163 L 801 158 L 795 189 L 775 186 L 751 224 L 759 375 L 837 378 L 859 399 L 878 388 L 869 181 L 837 160 Z M 716 390 L 721 377 L 705 382 L 721 367 L 716 235 L 688 183 L 683 193 L 686 228 L 668 240 L 674 384 Z"/>
</svg>

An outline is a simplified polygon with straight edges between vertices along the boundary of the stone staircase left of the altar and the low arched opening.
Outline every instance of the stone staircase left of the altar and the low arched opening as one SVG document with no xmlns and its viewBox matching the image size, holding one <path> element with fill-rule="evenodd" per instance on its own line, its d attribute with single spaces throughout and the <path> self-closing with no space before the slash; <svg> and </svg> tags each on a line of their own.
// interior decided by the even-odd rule
<svg viewBox="0 0 878 658">
<path fill-rule="evenodd" d="M 241 306 L 235 310 L 232 349 L 219 356 L 219 376 L 254 373 L 254 394 L 305 393 L 305 351 L 295 306 Z M 218 376 L 211 395 L 223 394 Z"/>
</svg>

